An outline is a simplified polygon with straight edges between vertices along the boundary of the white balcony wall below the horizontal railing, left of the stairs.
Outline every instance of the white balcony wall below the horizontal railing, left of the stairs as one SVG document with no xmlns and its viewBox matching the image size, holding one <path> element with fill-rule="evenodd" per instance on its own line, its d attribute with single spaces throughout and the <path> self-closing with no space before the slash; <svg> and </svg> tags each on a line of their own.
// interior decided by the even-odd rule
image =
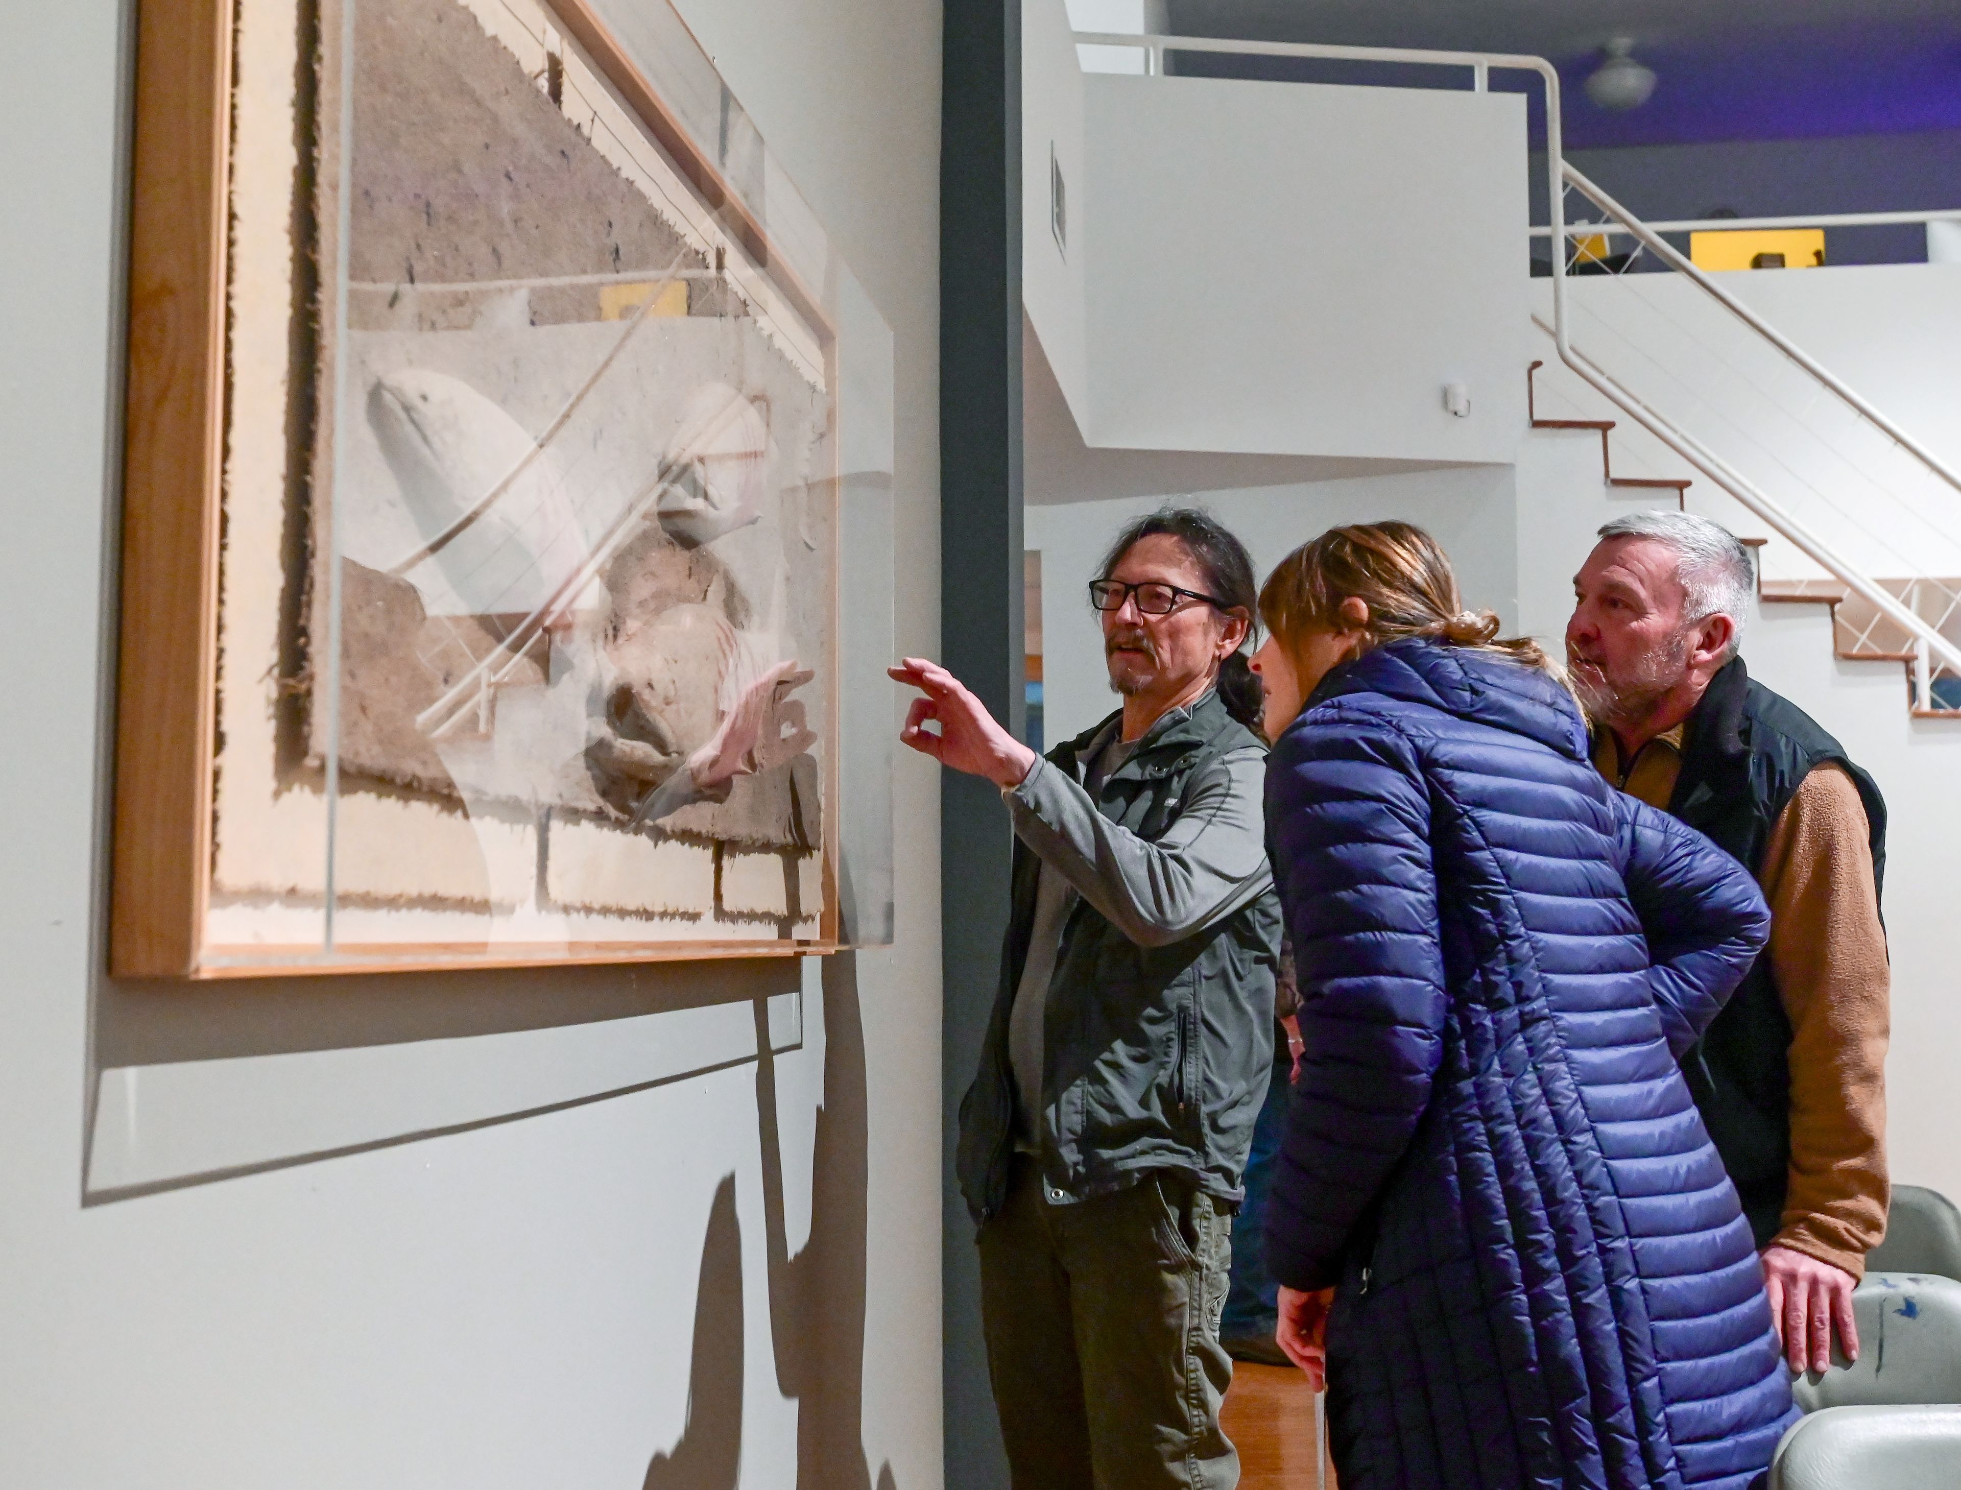
<svg viewBox="0 0 1961 1490">
<path fill-rule="evenodd" d="M 1084 76 L 1067 27 L 1026 0 L 1022 273 L 1086 445 L 1512 459 L 1522 96 Z"/>
</svg>

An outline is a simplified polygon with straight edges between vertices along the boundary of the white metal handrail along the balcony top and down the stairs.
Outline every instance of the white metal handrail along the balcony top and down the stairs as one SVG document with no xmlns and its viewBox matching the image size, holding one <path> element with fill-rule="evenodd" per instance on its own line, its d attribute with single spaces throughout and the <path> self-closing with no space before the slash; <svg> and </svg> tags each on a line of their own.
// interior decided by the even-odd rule
<svg viewBox="0 0 1961 1490">
<path fill-rule="evenodd" d="M 1618 218 L 1622 225 L 1639 239 L 1645 247 L 1653 249 L 1663 263 L 1688 274 L 1696 284 L 1700 284 L 1708 294 L 1712 294 L 1724 308 L 1735 314 L 1745 325 L 1763 335 L 1771 345 L 1775 345 L 1785 357 L 1794 361 L 1814 378 L 1824 382 L 1832 392 L 1851 404 L 1863 418 L 1871 420 L 1879 429 L 1890 435 L 1900 447 L 1916 455 L 1924 465 L 1936 471 L 1941 478 L 1961 490 L 1961 478 L 1955 476 L 1941 461 L 1924 451 L 1918 441 L 1900 431 L 1890 420 L 1886 420 L 1879 410 L 1867 404 L 1859 394 L 1839 382 L 1832 372 L 1820 367 L 1816 361 L 1798 351 L 1788 339 L 1785 339 L 1777 329 L 1767 325 L 1761 316 L 1751 312 L 1747 306 L 1739 304 L 1722 286 L 1710 280 L 1696 265 L 1692 265 L 1684 255 L 1681 255 L 1673 245 L 1655 235 L 1655 229 L 1635 218 L 1628 208 L 1620 206 L 1612 196 L 1608 196 L 1600 186 L 1588 180 L 1584 174 L 1575 171 L 1567 159 L 1561 139 L 1559 125 L 1559 71 L 1543 57 L 1524 57 L 1514 53 L 1481 53 L 1481 51 L 1432 51 L 1432 49 L 1400 49 L 1400 47 L 1337 47 L 1322 45 L 1316 41 L 1233 41 L 1226 37 L 1181 37 L 1165 35 L 1157 31 L 1147 33 L 1122 33 L 1122 31 L 1077 31 L 1075 41 L 1079 45 L 1100 45 L 1100 47 L 1141 47 L 1153 59 L 1153 73 L 1161 73 L 1161 59 L 1167 51 L 1210 51 L 1228 53 L 1239 57 L 1322 57 L 1330 61 L 1349 61 L 1349 63 L 1412 63 L 1412 65 L 1435 65 L 1435 67 L 1469 67 L 1473 76 L 1473 86 L 1477 90 L 1484 88 L 1484 80 L 1490 69 L 1535 73 L 1545 82 L 1545 169 L 1547 169 L 1547 225 L 1545 235 L 1555 243 L 1565 241 L 1567 222 L 1565 222 L 1565 188 L 1571 182 L 1583 194 L 1592 198 L 1610 216 Z M 1730 224 L 1734 225 L 1734 224 Z M 1588 224 L 1594 231 L 1598 225 Z M 1826 543 L 1812 533 L 1804 523 L 1785 512 L 1777 502 L 1765 496 L 1747 476 L 1743 476 L 1735 467 L 1724 461 L 1720 455 L 1702 445 L 1700 439 L 1681 429 L 1667 416 L 1649 408 L 1641 398 L 1624 388 L 1618 380 L 1608 376 L 1598 365 L 1588 357 L 1575 351 L 1567 335 L 1567 255 L 1551 255 L 1551 290 L 1553 290 L 1553 323 L 1547 327 L 1537 316 L 1534 322 L 1539 323 L 1543 331 L 1553 337 L 1553 345 L 1559 349 L 1559 361 L 1581 374 L 1596 392 L 1606 396 L 1612 404 L 1626 410 L 1637 423 L 1641 423 L 1649 433 L 1661 439 L 1669 449 L 1688 461 L 1696 471 L 1706 474 L 1712 482 L 1722 486 L 1730 496 L 1741 502 L 1745 508 L 1763 518 L 1771 527 L 1775 527 L 1783 537 L 1786 537 L 1794 547 L 1818 563 L 1826 572 L 1830 572 L 1839 584 L 1857 592 L 1875 610 L 1879 610 L 1886 620 L 1900 625 L 1908 635 L 1918 641 L 1918 651 L 1937 655 L 1943 665 L 1961 672 L 1961 647 L 1955 647 L 1947 637 L 1943 637 L 1934 625 L 1924 621 L 1920 616 L 1902 606 L 1885 586 L 1867 576 L 1863 571 L 1847 565 L 1839 559 Z M 1922 665 L 1924 670 L 1924 665 Z M 1926 702 L 1926 694 L 1922 694 Z"/>
</svg>

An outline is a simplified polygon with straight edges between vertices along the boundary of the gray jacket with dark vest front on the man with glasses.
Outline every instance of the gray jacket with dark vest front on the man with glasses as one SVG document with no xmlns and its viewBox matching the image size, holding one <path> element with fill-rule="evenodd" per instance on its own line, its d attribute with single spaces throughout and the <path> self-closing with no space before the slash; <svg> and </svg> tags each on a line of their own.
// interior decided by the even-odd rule
<svg viewBox="0 0 1961 1490">
<path fill-rule="evenodd" d="M 1092 751 L 1059 745 L 1008 794 L 1012 916 L 980 1070 L 961 1104 L 969 1210 L 1000 1210 L 1014 1149 L 1010 1019 L 1035 921 L 1037 869 L 1075 890 L 1041 1025 L 1031 1147 L 1051 1202 L 1177 1170 L 1237 1204 L 1273 1067 L 1281 912 L 1261 818 L 1263 745 L 1218 694 L 1173 710 L 1094 798 Z"/>
</svg>

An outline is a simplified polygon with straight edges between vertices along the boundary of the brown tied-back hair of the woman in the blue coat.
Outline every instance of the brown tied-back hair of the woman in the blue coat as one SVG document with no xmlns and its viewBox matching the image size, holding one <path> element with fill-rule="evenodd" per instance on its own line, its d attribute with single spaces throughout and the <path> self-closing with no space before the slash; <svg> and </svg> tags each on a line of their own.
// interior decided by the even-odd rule
<svg viewBox="0 0 1961 1490">
<path fill-rule="evenodd" d="M 1341 602 L 1369 606 L 1365 651 L 1404 637 L 1475 647 L 1561 676 L 1532 637 L 1498 639 L 1498 618 L 1465 610 L 1441 545 L 1416 523 L 1330 527 L 1286 555 L 1259 590 L 1259 618 L 1290 655 L 1308 631 L 1341 631 Z"/>
</svg>

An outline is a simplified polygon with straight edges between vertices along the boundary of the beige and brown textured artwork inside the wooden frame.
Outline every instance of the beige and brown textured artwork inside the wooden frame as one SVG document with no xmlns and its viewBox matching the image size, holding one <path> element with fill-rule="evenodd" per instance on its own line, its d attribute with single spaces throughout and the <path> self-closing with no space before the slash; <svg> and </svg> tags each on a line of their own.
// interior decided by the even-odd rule
<svg viewBox="0 0 1961 1490">
<path fill-rule="evenodd" d="M 545 8 L 310 14 L 237 10 L 208 935 L 814 935 L 828 333 Z"/>
</svg>

